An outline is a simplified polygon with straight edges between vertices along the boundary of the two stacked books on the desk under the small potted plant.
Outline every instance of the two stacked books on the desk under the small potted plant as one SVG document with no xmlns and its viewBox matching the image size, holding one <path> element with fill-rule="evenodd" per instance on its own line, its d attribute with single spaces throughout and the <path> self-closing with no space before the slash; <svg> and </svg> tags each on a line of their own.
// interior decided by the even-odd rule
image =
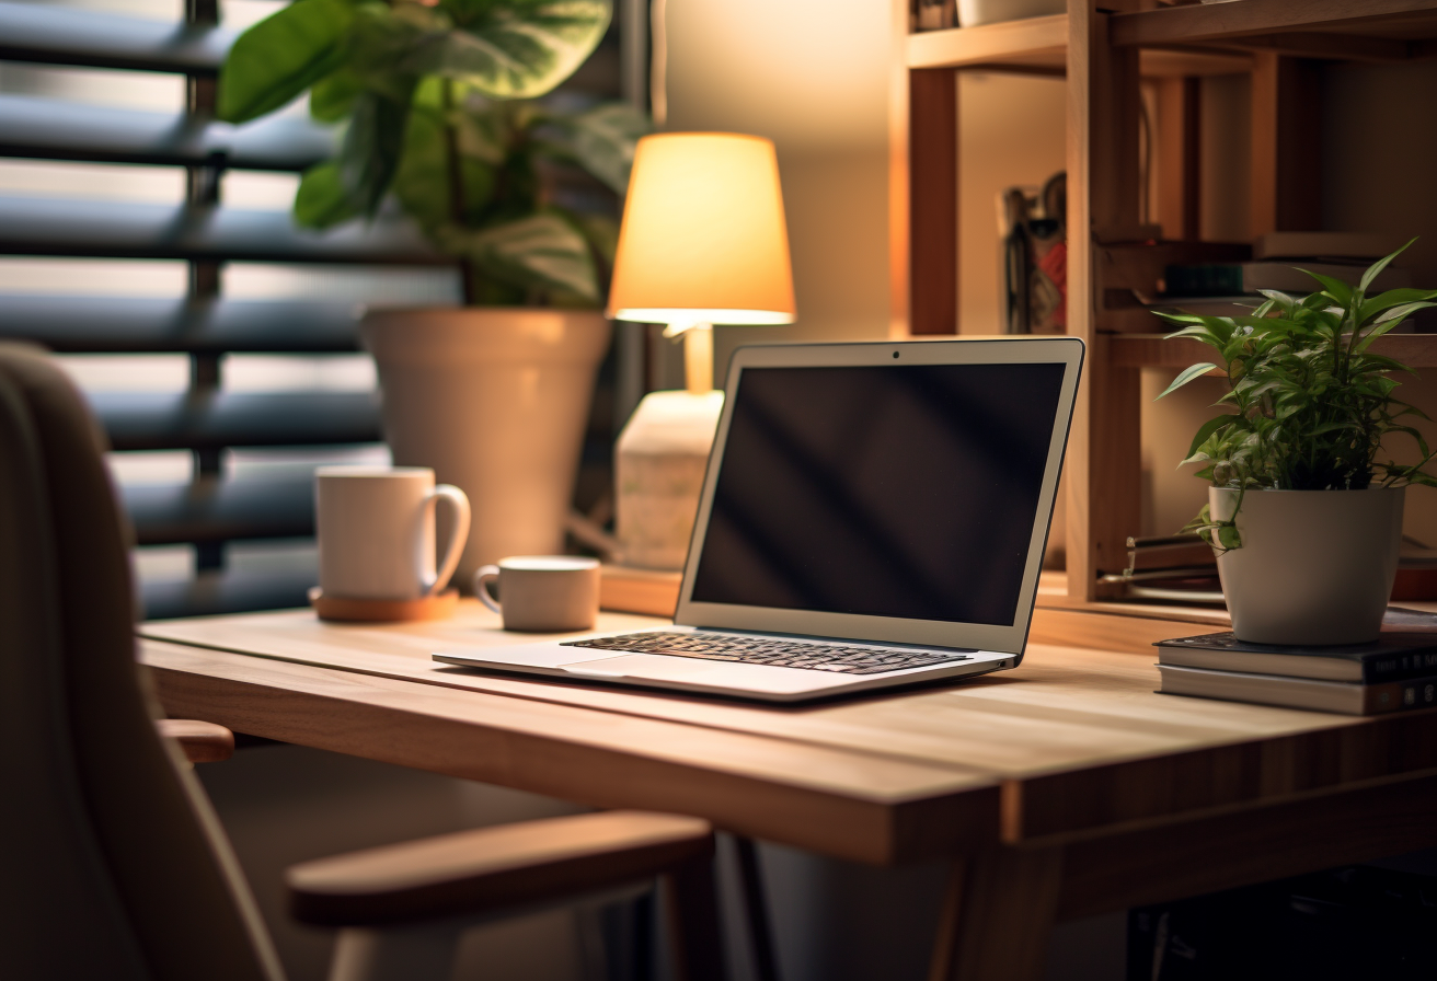
<svg viewBox="0 0 1437 981">
<path fill-rule="evenodd" d="M 1164 694 L 1348 715 L 1437 707 L 1431 633 L 1384 631 L 1374 643 L 1289 648 L 1247 643 L 1227 632 L 1154 646 Z"/>
</svg>

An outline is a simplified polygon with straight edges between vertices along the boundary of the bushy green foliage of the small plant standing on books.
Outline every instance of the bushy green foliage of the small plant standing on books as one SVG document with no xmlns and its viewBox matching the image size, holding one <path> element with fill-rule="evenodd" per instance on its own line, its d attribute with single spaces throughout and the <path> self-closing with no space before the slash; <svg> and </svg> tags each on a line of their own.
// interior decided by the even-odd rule
<svg viewBox="0 0 1437 981">
<path fill-rule="evenodd" d="M 1367 296 L 1378 273 L 1411 244 L 1374 263 L 1357 286 L 1302 270 L 1319 292 L 1295 299 L 1260 290 L 1266 300 L 1250 316 L 1158 315 L 1181 327 L 1170 339 L 1193 338 L 1221 356 L 1221 365 L 1187 368 L 1158 398 L 1226 369 L 1229 391 L 1217 404 L 1229 411 L 1198 427 L 1183 462 L 1206 462 L 1197 475 L 1239 491 L 1237 508 L 1249 490 L 1364 490 L 1374 481 L 1437 485 L 1437 477 L 1423 470 L 1434 451 L 1407 424 L 1427 417 L 1394 395 L 1400 382 L 1391 373 L 1415 372 L 1372 350 L 1374 340 L 1408 316 L 1437 306 L 1437 290 Z M 1418 462 L 1377 461 L 1394 432 L 1415 440 Z M 1242 546 L 1234 520 L 1236 510 L 1234 519 L 1216 521 L 1204 506 L 1183 530 L 1226 552 Z"/>
</svg>

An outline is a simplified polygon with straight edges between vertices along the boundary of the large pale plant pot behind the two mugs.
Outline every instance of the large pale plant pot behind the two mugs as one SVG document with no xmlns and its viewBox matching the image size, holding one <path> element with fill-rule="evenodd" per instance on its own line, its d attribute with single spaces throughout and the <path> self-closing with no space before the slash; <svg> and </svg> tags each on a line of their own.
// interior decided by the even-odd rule
<svg viewBox="0 0 1437 981">
<path fill-rule="evenodd" d="M 394 462 L 433 467 L 468 494 L 456 583 L 468 589 L 504 556 L 562 552 L 609 322 L 588 310 L 376 310 L 361 333 Z"/>
</svg>

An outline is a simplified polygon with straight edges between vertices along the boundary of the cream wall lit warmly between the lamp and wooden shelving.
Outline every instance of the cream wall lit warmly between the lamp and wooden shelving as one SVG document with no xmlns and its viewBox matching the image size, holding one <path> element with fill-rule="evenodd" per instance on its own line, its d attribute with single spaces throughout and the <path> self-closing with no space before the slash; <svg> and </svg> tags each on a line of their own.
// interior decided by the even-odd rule
<svg viewBox="0 0 1437 981">
<path fill-rule="evenodd" d="M 887 336 L 887 0 L 670 0 L 667 129 L 773 139 L 793 254 L 798 322 L 718 327 L 720 383 L 741 343 Z"/>
</svg>

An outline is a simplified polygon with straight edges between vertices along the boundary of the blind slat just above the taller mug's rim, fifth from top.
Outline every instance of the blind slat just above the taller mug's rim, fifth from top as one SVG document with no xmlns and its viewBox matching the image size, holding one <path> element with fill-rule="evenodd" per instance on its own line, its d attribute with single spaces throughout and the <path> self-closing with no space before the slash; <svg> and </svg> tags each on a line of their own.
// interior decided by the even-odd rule
<svg viewBox="0 0 1437 981">
<path fill-rule="evenodd" d="M 378 442 L 369 392 L 96 392 L 114 450 L 220 450 Z"/>
</svg>

